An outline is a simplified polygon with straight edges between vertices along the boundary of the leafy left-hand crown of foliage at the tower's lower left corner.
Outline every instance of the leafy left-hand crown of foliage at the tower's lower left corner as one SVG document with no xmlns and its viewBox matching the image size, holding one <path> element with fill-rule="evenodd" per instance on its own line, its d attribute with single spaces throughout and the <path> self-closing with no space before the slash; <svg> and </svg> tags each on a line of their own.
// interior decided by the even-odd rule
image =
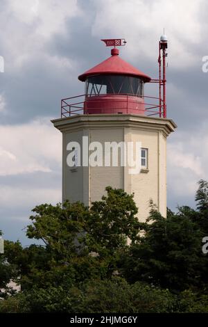
<svg viewBox="0 0 208 327">
<path fill-rule="evenodd" d="M 58 260 L 70 259 L 83 250 L 75 241 L 83 232 L 89 215 L 82 203 L 66 201 L 63 205 L 39 205 L 33 212 L 36 213 L 30 217 L 33 224 L 28 225 L 26 232 L 30 239 L 41 239 Z"/>
</svg>

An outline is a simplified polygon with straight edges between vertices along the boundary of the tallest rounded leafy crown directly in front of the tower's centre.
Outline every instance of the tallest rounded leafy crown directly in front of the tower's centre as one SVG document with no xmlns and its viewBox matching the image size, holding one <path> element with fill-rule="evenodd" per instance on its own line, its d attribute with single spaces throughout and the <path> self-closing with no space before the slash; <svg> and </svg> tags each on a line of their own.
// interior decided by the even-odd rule
<svg viewBox="0 0 208 327">
<path fill-rule="evenodd" d="M 107 196 L 92 204 L 86 222 L 87 242 L 91 250 L 101 256 L 112 254 L 125 246 L 127 237 L 134 242 L 138 232 L 138 209 L 133 196 L 110 186 L 106 191 Z"/>
</svg>

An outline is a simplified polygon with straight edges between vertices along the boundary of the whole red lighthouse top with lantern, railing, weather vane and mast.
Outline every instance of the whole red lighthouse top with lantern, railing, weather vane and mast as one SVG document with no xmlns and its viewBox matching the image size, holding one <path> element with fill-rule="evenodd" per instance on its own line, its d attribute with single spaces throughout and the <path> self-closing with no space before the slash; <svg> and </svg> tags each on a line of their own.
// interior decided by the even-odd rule
<svg viewBox="0 0 208 327">
<path fill-rule="evenodd" d="M 159 79 L 133 67 L 119 56 L 117 46 L 125 45 L 124 39 L 102 40 L 111 49 L 111 56 L 81 74 L 85 93 L 62 99 L 61 115 L 136 114 L 159 115 L 166 118 L 166 49 L 167 40 L 159 41 Z M 162 55 L 161 55 L 162 51 Z M 145 83 L 159 84 L 159 97 L 144 94 Z M 163 95 L 163 96 L 162 96 Z"/>
</svg>

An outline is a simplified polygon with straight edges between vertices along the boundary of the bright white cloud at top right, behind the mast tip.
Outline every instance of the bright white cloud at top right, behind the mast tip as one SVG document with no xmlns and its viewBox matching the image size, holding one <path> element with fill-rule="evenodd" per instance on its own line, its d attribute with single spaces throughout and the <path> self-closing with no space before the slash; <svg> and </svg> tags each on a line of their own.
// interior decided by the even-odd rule
<svg viewBox="0 0 208 327">
<path fill-rule="evenodd" d="M 198 64 L 190 45 L 200 44 L 203 33 L 205 35 L 207 26 L 202 25 L 199 15 L 205 4 L 205 0 L 94 0 L 96 20 L 92 33 L 105 38 L 126 38 L 125 56 L 146 56 L 155 61 L 158 40 L 165 27 L 170 40 L 169 63 L 180 69 L 187 68 Z"/>
</svg>

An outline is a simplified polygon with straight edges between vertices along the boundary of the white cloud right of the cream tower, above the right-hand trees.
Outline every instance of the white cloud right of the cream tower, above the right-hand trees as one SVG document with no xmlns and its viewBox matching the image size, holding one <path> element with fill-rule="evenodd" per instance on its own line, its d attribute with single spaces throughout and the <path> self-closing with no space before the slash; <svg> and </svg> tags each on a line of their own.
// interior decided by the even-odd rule
<svg viewBox="0 0 208 327">
<path fill-rule="evenodd" d="M 207 180 L 208 176 L 207 122 L 193 134 L 175 133 L 175 140 L 168 139 L 168 187 L 177 196 L 194 198 L 198 180 Z"/>
</svg>

